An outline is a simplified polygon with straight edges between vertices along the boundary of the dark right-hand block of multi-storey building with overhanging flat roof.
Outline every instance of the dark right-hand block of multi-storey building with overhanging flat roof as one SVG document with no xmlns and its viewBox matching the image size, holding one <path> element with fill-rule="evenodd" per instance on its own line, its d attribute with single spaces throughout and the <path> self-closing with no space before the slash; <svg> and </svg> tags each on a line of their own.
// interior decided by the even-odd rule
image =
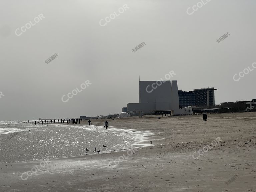
<svg viewBox="0 0 256 192">
<path fill-rule="evenodd" d="M 215 107 L 214 100 L 214 87 L 204 88 L 204 89 L 194 89 L 189 91 L 195 94 L 195 106 L 203 107 Z"/>
</svg>

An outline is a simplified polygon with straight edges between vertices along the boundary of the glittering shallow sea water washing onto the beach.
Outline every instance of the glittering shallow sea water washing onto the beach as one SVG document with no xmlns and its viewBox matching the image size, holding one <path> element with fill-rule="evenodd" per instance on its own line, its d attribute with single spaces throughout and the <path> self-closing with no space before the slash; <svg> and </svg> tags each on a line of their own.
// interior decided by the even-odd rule
<svg viewBox="0 0 256 192">
<path fill-rule="evenodd" d="M 105 129 L 103 126 L 2 121 L 0 163 L 95 154 L 95 147 L 100 153 L 129 149 L 146 134 L 111 126 Z"/>
</svg>

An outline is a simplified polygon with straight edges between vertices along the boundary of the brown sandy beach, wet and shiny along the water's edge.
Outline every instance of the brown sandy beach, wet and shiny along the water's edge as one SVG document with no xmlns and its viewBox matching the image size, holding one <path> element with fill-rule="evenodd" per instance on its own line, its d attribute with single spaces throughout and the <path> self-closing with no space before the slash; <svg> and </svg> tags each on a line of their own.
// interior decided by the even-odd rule
<svg viewBox="0 0 256 192">
<path fill-rule="evenodd" d="M 152 133 L 145 147 L 137 145 L 129 155 L 117 151 L 50 159 L 27 180 L 21 174 L 41 161 L 0 164 L 0 191 L 256 191 L 256 113 L 210 114 L 207 122 L 202 115 L 157 117 L 108 120 L 113 127 Z M 92 123 L 104 126 L 103 121 Z M 218 137 L 221 141 L 212 146 Z M 212 148 L 199 156 L 207 144 Z M 113 166 L 118 158 L 124 161 Z"/>
</svg>

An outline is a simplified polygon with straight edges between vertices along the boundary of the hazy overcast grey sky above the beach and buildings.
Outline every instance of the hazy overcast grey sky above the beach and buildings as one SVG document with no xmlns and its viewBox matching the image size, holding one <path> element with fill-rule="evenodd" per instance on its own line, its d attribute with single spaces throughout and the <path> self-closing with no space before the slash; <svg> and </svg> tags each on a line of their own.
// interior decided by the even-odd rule
<svg viewBox="0 0 256 192">
<path fill-rule="evenodd" d="M 160 80 L 172 70 L 178 89 L 217 88 L 215 104 L 256 99 L 256 69 L 233 80 L 256 62 L 256 1 L 202 1 L 0 0 L 0 120 L 120 113 L 138 102 L 139 74 Z"/>
</svg>

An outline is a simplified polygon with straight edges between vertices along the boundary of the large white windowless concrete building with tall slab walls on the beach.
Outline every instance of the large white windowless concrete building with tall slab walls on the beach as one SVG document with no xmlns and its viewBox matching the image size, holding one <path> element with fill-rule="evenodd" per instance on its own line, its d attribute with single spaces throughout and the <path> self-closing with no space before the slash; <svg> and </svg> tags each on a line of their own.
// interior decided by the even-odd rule
<svg viewBox="0 0 256 192">
<path fill-rule="evenodd" d="M 151 112 L 189 114 L 179 106 L 177 81 L 139 81 L 139 103 L 128 103 L 127 110 L 139 111 L 139 117 Z"/>
</svg>

